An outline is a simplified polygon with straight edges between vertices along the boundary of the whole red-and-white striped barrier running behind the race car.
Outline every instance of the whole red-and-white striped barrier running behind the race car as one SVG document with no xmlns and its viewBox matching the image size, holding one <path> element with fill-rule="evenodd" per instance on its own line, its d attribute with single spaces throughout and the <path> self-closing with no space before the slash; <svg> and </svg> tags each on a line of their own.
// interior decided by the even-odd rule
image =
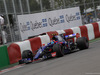
<svg viewBox="0 0 100 75">
<path fill-rule="evenodd" d="M 88 40 L 92 40 L 100 37 L 100 22 L 74 27 L 66 30 L 50 31 L 47 32 L 47 35 L 38 36 L 22 42 L 12 43 L 8 47 L 10 64 L 18 62 L 18 60 L 21 59 L 21 53 L 24 50 L 31 50 L 35 54 L 40 46 L 42 46 L 43 44 L 46 45 L 50 42 L 52 34 L 58 35 L 62 33 L 66 33 L 67 35 L 79 33 L 80 36 L 87 37 Z"/>
</svg>

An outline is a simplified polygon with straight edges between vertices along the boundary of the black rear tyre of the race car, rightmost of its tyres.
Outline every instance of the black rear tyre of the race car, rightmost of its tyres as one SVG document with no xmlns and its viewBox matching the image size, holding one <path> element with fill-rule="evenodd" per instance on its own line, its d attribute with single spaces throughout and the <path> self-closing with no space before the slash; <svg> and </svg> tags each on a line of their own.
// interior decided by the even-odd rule
<svg viewBox="0 0 100 75">
<path fill-rule="evenodd" d="M 88 41 L 88 39 L 86 37 L 79 37 L 76 40 L 76 43 L 77 43 L 77 47 L 80 50 L 88 49 L 89 48 L 89 41 Z"/>
</svg>

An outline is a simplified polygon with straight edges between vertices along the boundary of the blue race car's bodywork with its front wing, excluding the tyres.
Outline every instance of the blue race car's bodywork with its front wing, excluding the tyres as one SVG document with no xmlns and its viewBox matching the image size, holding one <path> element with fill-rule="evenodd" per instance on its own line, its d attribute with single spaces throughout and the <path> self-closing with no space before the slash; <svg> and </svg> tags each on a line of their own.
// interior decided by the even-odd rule
<svg viewBox="0 0 100 75">
<path fill-rule="evenodd" d="M 52 38 L 51 42 L 48 43 L 46 46 L 41 46 L 35 56 L 33 57 L 33 60 L 39 59 L 39 58 L 50 58 L 50 57 L 55 57 L 53 56 L 54 50 L 53 46 L 54 44 L 59 44 L 61 47 L 64 49 L 64 54 L 69 53 L 71 51 L 71 46 L 73 42 L 69 41 L 68 39 L 76 37 L 76 34 L 71 34 L 71 35 L 55 35 L 54 38 Z M 75 49 L 75 48 L 74 48 Z M 25 58 L 19 60 L 19 64 L 22 63 L 30 63 L 33 61 L 32 58 Z"/>
</svg>

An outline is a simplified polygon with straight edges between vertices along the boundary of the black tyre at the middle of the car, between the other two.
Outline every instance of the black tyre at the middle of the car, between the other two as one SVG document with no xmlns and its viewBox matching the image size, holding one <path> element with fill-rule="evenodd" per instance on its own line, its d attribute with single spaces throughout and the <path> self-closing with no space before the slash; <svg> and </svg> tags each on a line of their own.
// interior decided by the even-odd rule
<svg viewBox="0 0 100 75">
<path fill-rule="evenodd" d="M 63 51 L 63 49 L 62 49 L 62 47 L 61 47 L 60 44 L 54 44 L 54 46 L 53 46 L 53 52 L 56 52 L 56 56 L 57 57 L 64 56 L 64 51 Z"/>
</svg>

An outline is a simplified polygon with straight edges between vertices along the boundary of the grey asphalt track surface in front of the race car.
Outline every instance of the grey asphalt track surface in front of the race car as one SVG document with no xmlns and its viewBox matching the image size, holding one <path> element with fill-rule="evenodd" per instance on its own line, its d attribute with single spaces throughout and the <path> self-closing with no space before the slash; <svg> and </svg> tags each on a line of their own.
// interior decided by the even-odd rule
<svg viewBox="0 0 100 75">
<path fill-rule="evenodd" d="M 23 65 L 0 75 L 100 75 L 100 41 L 90 43 L 87 50 Z"/>
</svg>

